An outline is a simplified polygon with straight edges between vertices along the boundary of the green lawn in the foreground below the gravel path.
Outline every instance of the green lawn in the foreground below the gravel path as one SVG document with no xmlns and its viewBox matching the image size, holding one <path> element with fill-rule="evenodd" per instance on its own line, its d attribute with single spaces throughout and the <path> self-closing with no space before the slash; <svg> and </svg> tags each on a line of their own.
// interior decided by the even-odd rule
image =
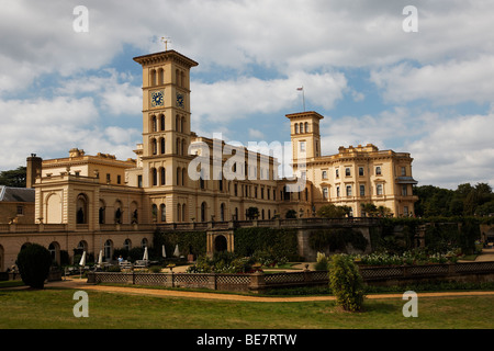
<svg viewBox="0 0 494 351">
<path fill-rule="evenodd" d="M 423 297 L 418 317 L 405 318 L 404 301 L 367 299 L 350 314 L 334 302 L 247 303 L 162 298 L 88 291 L 89 317 L 72 314 L 75 291 L 0 290 L 0 329 L 335 329 L 493 328 L 494 296 Z"/>
</svg>

